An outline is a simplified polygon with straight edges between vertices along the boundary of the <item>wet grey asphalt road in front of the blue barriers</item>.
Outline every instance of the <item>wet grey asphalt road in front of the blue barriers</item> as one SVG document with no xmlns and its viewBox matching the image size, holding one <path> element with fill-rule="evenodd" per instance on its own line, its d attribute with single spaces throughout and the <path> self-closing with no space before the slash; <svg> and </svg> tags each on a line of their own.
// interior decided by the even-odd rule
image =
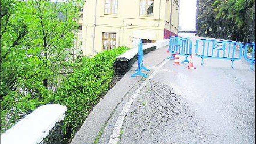
<svg viewBox="0 0 256 144">
<path fill-rule="evenodd" d="M 191 39 L 195 44 L 196 37 Z M 231 61 L 205 59 L 202 66 L 194 56 L 196 69 L 188 70 L 187 64 L 164 60 L 165 48 L 156 51 L 143 60 L 152 77 L 126 94 L 102 127 L 97 143 L 255 143 L 255 70 L 249 69 L 248 62 L 235 61 L 231 68 Z M 156 57 L 163 59 L 161 67 L 152 66 Z M 120 119 L 120 135 L 111 141 Z"/>
</svg>

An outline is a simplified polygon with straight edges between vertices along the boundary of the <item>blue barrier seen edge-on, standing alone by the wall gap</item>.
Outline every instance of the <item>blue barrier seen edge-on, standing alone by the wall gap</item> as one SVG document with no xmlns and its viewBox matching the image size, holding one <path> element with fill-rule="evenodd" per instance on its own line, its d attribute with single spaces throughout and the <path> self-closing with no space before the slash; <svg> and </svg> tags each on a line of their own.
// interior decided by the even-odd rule
<svg viewBox="0 0 256 144">
<path fill-rule="evenodd" d="M 138 75 L 141 75 L 141 76 L 147 78 L 148 76 L 146 74 L 142 73 L 141 70 L 150 71 L 149 69 L 147 69 L 146 67 L 143 66 L 142 40 L 140 40 L 139 47 L 138 47 L 138 69 L 135 70 L 137 72 L 132 74 L 131 77 L 137 77 Z"/>
</svg>

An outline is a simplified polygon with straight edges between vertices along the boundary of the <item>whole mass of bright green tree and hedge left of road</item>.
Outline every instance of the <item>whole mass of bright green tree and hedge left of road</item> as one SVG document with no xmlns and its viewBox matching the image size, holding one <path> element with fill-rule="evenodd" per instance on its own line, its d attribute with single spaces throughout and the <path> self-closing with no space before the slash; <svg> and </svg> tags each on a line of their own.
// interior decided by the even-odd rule
<svg viewBox="0 0 256 144">
<path fill-rule="evenodd" d="M 74 40 L 82 1 L 1 0 L 1 134 L 38 106 L 67 106 L 70 141 L 114 77 L 116 56 L 78 54 Z"/>
</svg>

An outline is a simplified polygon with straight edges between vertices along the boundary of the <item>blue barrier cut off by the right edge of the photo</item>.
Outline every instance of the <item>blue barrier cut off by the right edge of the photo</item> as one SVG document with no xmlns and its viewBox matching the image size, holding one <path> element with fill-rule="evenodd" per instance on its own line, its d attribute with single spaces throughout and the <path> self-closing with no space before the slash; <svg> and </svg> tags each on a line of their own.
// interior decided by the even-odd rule
<svg viewBox="0 0 256 144">
<path fill-rule="evenodd" d="M 248 55 L 249 49 L 252 49 L 251 55 Z M 244 59 L 250 62 L 250 69 L 253 70 L 253 64 L 255 63 L 255 42 L 246 43 L 244 49 Z"/>
</svg>

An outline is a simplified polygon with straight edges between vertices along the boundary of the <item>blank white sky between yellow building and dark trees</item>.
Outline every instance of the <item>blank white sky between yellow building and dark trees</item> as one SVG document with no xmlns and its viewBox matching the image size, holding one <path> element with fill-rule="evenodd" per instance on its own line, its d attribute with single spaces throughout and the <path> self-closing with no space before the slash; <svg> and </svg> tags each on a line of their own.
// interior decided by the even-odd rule
<svg viewBox="0 0 256 144">
<path fill-rule="evenodd" d="M 195 30 L 196 0 L 180 0 L 179 26 L 181 30 Z"/>
</svg>

